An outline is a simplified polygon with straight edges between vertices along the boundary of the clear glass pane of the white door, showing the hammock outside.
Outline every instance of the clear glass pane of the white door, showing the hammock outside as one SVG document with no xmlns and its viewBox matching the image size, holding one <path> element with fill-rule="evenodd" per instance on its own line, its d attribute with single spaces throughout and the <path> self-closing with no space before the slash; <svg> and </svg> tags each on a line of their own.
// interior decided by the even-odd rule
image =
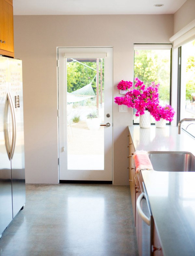
<svg viewBox="0 0 195 256">
<path fill-rule="evenodd" d="M 67 59 L 69 170 L 104 169 L 104 59 Z"/>
</svg>

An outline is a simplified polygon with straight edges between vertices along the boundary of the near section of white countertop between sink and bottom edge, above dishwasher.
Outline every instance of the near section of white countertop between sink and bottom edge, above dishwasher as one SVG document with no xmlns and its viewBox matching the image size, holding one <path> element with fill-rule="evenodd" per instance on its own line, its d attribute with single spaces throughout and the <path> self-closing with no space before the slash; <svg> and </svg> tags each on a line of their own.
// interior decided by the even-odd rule
<svg viewBox="0 0 195 256">
<path fill-rule="evenodd" d="M 195 255 L 195 172 L 142 175 L 164 256 Z"/>
</svg>

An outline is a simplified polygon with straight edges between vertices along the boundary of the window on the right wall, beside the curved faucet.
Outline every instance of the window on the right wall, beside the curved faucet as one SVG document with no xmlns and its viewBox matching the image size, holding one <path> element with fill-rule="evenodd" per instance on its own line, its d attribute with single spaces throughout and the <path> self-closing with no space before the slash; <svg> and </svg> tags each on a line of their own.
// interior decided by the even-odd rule
<svg viewBox="0 0 195 256">
<path fill-rule="evenodd" d="M 178 117 L 195 118 L 195 39 L 178 48 Z M 195 121 L 184 122 L 182 128 L 195 136 Z"/>
</svg>

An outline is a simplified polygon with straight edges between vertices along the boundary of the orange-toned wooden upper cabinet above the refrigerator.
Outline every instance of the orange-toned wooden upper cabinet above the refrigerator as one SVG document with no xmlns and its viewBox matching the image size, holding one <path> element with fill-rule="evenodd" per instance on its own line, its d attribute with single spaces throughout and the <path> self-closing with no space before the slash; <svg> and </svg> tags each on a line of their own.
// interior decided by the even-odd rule
<svg viewBox="0 0 195 256">
<path fill-rule="evenodd" d="M 0 0 L 0 54 L 14 57 L 12 0 Z"/>
</svg>

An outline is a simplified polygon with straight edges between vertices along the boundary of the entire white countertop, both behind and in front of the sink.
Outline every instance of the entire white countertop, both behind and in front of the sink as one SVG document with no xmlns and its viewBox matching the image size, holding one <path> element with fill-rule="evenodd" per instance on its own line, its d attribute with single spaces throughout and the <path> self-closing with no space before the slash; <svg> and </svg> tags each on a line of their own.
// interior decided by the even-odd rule
<svg viewBox="0 0 195 256">
<path fill-rule="evenodd" d="M 178 128 L 129 126 L 136 150 L 188 151 L 195 140 Z M 195 172 L 142 171 L 164 256 L 195 255 Z"/>
</svg>

